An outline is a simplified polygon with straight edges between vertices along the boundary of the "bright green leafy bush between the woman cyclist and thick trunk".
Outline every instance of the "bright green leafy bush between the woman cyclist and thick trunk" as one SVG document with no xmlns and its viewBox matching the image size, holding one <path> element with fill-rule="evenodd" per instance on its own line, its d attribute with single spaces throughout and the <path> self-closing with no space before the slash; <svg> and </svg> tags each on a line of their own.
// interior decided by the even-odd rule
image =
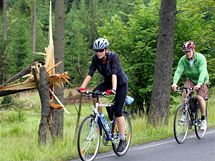
<svg viewBox="0 0 215 161">
<path fill-rule="evenodd" d="M 158 31 L 158 4 L 150 2 L 146 6 L 142 1 L 136 1 L 133 13 L 128 15 L 128 21 L 124 22 L 122 16 L 115 15 L 99 30 L 101 34 L 107 35 L 112 49 L 121 54 L 129 77 L 129 91 L 137 104 L 135 111 L 144 111 L 143 105 L 149 107 L 150 103 Z"/>
</svg>

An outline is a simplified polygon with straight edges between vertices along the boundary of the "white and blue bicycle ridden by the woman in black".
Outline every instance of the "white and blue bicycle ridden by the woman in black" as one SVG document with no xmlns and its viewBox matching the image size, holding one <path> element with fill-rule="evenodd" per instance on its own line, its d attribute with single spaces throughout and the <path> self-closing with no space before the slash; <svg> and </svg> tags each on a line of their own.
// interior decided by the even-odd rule
<svg viewBox="0 0 215 161">
<path fill-rule="evenodd" d="M 92 161 L 96 158 L 96 155 L 100 146 L 100 137 L 103 135 L 103 144 L 107 145 L 110 141 L 112 143 L 113 151 L 117 156 L 125 155 L 129 149 L 132 138 L 132 126 L 130 118 L 127 112 L 123 111 L 122 115 L 125 118 L 125 137 L 127 145 L 122 152 L 117 151 L 117 147 L 120 140 L 119 130 L 116 125 L 116 119 L 114 118 L 110 121 L 110 130 L 108 131 L 100 120 L 98 107 L 107 107 L 110 108 L 113 103 L 110 104 L 100 104 L 99 98 L 106 96 L 106 92 L 85 92 L 82 95 L 95 98 L 96 104 L 93 108 L 93 113 L 88 115 L 82 121 L 79 131 L 78 131 L 78 140 L 77 147 L 79 157 L 82 161 Z"/>
</svg>

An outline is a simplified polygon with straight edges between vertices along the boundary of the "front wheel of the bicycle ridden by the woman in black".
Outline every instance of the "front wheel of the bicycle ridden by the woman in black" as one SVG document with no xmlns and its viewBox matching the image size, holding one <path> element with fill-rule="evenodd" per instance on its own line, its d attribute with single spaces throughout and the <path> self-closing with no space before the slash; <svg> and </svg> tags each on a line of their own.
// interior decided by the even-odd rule
<svg viewBox="0 0 215 161">
<path fill-rule="evenodd" d="M 95 159 L 100 145 L 100 128 L 94 116 L 87 116 L 78 131 L 78 153 L 82 161 Z"/>
</svg>

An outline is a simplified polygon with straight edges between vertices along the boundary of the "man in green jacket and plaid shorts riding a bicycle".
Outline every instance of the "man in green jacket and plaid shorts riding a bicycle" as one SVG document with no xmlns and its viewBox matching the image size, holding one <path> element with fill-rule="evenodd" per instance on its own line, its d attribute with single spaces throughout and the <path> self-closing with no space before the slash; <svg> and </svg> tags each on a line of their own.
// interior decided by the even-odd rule
<svg viewBox="0 0 215 161">
<path fill-rule="evenodd" d="M 204 55 L 195 52 L 195 44 L 193 41 L 188 41 L 183 45 L 185 55 L 181 57 L 178 63 L 177 70 L 173 77 L 172 89 L 176 91 L 177 83 L 182 74 L 185 75 L 186 81 L 184 86 L 194 88 L 197 91 L 197 98 L 202 114 L 201 129 L 207 129 L 206 121 L 206 104 L 205 99 L 208 97 L 209 75 L 207 70 L 207 61 Z"/>
</svg>

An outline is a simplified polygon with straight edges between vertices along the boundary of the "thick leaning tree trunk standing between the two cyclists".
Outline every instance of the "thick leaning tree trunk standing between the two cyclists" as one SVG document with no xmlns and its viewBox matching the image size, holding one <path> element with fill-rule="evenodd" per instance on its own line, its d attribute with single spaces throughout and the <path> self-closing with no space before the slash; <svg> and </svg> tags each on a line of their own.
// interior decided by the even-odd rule
<svg viewBox="0 0 215 161">
<path fill-rule="evenodd" d="M 157 56 L 149 122 L 168 124 L 172 77 L 176 0 L 161 0 Z"/>
</svg>

